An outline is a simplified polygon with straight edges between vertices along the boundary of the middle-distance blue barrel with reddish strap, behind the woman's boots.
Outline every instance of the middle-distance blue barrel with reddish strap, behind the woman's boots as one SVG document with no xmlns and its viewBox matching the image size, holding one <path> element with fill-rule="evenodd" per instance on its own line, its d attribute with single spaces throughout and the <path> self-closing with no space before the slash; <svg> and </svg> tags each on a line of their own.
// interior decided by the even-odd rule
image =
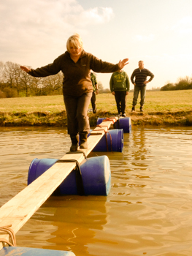
<svg viewBox="0 0 192 256">
<path fill-rule="evenodd" d="M 90 134 L 89 134 L 90 135 Z M 89 136 L 88 135 L 88 136 Z M 107 140 L 106 140 L 107 135 Z M 93 151 L 97 152 L 122 152 L 123 151 L 123 129 L 110 129 L 108 132 L 99 140 L 99 143 L 93 148 Z M 111 136 L 110 136 L 111 135 Z"/>
</svg>

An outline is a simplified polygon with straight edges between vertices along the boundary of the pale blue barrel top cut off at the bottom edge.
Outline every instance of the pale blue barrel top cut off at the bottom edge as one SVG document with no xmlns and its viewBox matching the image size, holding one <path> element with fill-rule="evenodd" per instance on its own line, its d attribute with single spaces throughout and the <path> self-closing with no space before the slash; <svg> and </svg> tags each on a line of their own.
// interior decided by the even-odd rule
<svg viewBox="0 0 192 256">
<path fill-rule="evenodd" d="M 0 250 L 0 256 L 75 256 L 73 252 L 56 251 L 53 249 L 36 249 L 28 247 L 6 246 Z"/>
</svg>

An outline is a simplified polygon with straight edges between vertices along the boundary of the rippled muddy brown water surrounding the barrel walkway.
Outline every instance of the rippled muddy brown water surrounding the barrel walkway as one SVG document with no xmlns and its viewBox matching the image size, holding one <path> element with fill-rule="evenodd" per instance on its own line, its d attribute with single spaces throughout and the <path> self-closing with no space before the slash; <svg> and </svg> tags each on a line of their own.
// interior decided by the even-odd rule
<svg viewBox="0 0 192 256">
<path fill-rule="evenodd" d="M 26 187 L 34 158 L 61 158 L 66 130 L 0 128 L 0 206 Z M 82 255 L 192 254 L 192 128 L 138 128 L 106 153 L 107 197 L 50 197 L 17 233 L 18 246 Z M 103 153 L 93 152 L 90 157 Z"/>
</svg>

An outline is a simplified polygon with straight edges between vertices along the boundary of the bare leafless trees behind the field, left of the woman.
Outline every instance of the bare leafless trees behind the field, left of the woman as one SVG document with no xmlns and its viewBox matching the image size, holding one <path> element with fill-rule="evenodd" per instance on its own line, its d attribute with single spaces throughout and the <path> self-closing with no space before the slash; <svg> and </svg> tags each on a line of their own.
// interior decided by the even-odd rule
<svg viewBox="0 0 192 256">
<path fill-rule="evenodd" d="M 0 98 L 62 94 L 63 73 L 47 78 L 34 78 L 19 64 L 0 61 Z"/>
</svg>

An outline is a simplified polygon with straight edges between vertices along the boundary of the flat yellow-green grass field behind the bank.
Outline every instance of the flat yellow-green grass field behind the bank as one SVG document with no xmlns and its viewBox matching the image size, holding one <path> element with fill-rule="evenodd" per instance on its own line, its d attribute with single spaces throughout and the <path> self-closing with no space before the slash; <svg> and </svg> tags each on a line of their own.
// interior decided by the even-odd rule
<svg viewBox="0 0 192 256">
<path fill-rule="evenodd" d="M 128 94 L 126 111 L 131 111 L 133 92 Z M 139 102 L 139 100 L 138 100 Z M 97 109 L 116 113 L 115 97 L 112 94 L 98 94 Z M 90 105 L 91 108 L 91 105 Z M 139 111 L 139 104 L 137 103 Z M 192 90 L 186 91 L 147 91 L 145 111 L 189 111 L 192 110 Z M 1 113 L 57 113 L 65 110 L 62 95 L 0 99 Z"/>
</svg>

